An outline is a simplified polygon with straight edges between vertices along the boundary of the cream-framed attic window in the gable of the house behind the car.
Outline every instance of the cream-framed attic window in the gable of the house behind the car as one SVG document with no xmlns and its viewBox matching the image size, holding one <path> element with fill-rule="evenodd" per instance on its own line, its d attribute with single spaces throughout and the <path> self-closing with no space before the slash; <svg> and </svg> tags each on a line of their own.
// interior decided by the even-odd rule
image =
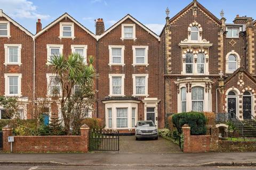
<svg viewBox="0 0 256 170">
<path fill-rule="evenodd" d="M 124 39 L 136 39 L 135 36 L 135 24 L 122 24 L 122 40 Z"/>
</svg>

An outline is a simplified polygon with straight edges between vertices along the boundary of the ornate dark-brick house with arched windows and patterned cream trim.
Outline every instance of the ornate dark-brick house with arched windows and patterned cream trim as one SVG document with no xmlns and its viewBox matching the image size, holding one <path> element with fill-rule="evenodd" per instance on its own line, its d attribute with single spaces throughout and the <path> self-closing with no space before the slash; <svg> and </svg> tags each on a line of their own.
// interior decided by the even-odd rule
<svg viewBox="0 0 256 170">
<path fill-rule="evenodd" d="M 255 21 L 237 15 L 226 23 L 197 1 L 173 18 L 166 10 L 160 35 L 165 56 L 165 114 L 230 112 L 255 116 Z"/>
</svg>

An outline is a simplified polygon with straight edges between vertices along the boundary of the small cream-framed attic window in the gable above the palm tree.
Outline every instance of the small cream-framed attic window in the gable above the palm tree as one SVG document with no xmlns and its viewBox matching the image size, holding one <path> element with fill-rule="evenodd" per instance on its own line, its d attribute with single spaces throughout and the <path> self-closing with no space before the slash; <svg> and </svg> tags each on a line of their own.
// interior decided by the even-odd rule
<svg viewBox="0 0 256 170">
<path fill-rule="evenodd" d="M 72 38 L 74 39 L 74 23 L 73 22 L 60 22 L 60 39 Z"/>
</svg>

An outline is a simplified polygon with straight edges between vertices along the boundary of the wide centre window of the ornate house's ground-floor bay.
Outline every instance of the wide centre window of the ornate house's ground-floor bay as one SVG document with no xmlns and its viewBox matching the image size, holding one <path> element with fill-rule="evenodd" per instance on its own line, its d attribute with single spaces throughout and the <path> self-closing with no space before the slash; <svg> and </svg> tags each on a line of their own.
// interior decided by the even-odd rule
<svg viewBox="0 0 256 170">
<path fill-rule="evenodd" d="M 191 92 L 192 111 L 203 112 L 204 110 L 204 88 L 193 87 Z"/>
</svg>

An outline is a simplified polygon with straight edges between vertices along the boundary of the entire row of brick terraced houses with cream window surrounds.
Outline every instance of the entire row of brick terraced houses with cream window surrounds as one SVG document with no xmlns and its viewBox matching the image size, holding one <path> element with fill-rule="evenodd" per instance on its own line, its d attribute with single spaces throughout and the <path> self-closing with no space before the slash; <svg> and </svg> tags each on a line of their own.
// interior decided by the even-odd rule
<svg viewBox="0 0 256 170">
<path fill-rule="evenodd" d="M 256 21 L 237 15 L 226 23 L 223 11 L 219 19 L 196 0 L 166 15 L 159 36 L 129 14 L 106 31 L 98 19 L 94 35 L 67 13 L 43 29 L 38 20 L 32 35 L 1 10 L 0 95 L 17 96 L 24 118 L 33 118 L 30 105 L 49 98 L 45 112 L 61 117 L 51 100 L 58 77 L 47 61 L 77 52 L 95 57 L 99 92 L 89 116 L 101 118 L 106 129 L 132 133 L 138 120 L 163 128 L 167 115 L 189 111 L 252 119 Z"/>
</svg>

